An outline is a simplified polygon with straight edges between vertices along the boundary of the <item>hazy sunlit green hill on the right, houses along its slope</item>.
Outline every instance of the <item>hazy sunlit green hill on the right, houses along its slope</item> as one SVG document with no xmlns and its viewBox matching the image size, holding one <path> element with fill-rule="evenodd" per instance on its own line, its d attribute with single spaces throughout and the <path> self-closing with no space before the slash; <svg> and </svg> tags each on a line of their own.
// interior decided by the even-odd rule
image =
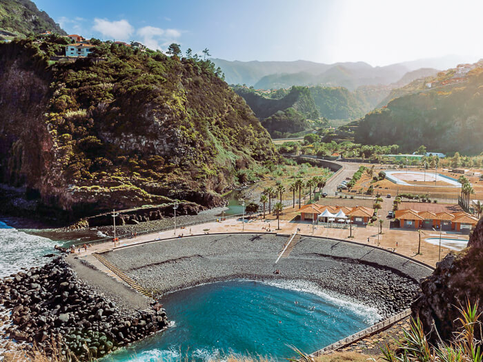
<svg viewBox="0 0 483 362">
<path fill-rule="evenodd" d="M 396 143 L 402 150 L 425 145 L 434 152 L 480 154 L 483 139 L 483 61 L 395 90 L 387 106 L 353 127 L 355 142 Z"/>
</svg>

